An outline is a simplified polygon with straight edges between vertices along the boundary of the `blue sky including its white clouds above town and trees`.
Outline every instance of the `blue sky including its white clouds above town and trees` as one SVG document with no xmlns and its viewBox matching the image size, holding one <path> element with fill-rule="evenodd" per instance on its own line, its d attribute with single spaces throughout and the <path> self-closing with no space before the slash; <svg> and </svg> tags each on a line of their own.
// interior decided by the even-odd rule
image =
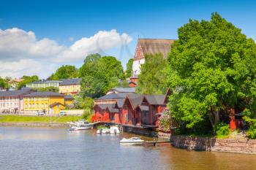
<svg viewBox="0 0 256 170">
<path fill-rule="evenodd" d="M 113 55 L 124 69 L 139 38 L 177 39 L 192 20 L 218 12 L 256 40 L 256 1 L 0 0 L 0 77 L 47 78 L 86 55 Z"/>
</svg>

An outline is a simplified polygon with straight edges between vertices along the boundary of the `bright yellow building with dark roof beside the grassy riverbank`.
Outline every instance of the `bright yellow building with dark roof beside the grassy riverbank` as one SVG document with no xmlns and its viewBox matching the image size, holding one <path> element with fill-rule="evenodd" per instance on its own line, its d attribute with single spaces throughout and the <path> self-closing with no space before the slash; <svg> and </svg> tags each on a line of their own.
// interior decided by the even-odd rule
<svg viewBox="0 0 256 170">
<path fill-rule="evenodd" d="M 25 114 L 59 114 L 64 109 L 64 95 L 51 91 L 34 92 L 23 97 Z"/>
</svg>

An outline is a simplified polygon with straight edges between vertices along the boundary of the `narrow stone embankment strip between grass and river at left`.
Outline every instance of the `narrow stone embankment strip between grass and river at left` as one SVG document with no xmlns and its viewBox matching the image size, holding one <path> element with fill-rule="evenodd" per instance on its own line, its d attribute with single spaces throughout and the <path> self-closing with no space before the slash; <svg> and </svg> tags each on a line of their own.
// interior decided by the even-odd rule
<svg viewBox="0 0 256 170">
<path fill-rule="evenodd" d="M 0 126 L 45 126 L 45 127 L 67 127 L 67 123 L 0 123 Z"/>
</svg>

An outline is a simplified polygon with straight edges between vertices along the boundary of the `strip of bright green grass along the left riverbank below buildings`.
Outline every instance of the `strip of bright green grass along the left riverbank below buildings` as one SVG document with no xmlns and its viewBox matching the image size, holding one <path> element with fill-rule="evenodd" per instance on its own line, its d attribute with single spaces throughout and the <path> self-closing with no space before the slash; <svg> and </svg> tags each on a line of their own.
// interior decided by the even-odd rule
<svg viewBox="0 0 256 170">
<path fill-rule="evenodd" d="M 21 116 L 0 115 L 0 123 L 67 123 L 80 120 L 80 116 Z"/>
</svg>

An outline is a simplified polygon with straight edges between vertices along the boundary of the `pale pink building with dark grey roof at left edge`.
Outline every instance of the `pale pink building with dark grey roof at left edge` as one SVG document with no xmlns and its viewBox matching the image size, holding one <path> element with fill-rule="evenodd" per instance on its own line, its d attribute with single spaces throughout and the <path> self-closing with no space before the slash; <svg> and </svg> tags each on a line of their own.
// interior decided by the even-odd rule
<svg viewBox="0 0 256 170">
<path fill-rule="evenodd" d="M 31 88 L 0 91 L 0 112 L 23 112 L 23 96 L 34 91 Z"/>
</svg>

